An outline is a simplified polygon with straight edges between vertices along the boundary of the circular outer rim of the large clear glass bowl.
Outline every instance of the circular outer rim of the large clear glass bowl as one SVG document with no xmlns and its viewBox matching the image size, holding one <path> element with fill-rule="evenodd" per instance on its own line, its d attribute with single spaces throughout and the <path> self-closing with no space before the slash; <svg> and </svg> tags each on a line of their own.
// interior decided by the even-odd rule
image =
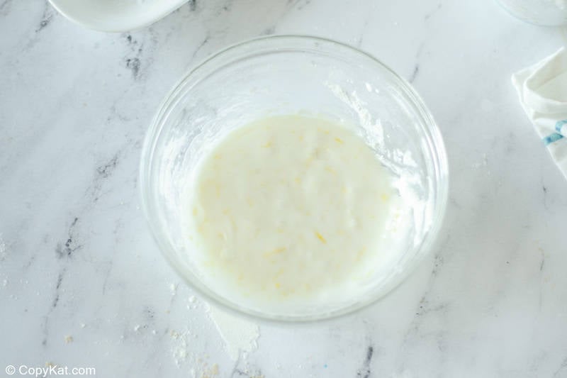
<svg viewBox="0 0 567 378">
<path fill-rule="evenodd" d="M 400 89 L 403 90 L 403 94 L 408 97 L 411 105 L 415 108 L 417 116 L 422 118 L 422 122 L 420 122 L 420 128 L 422 128 L 423 137 L 427 141 L 427 148 L 430 150 L 432 160 L 434 160 L 432 166 L 435 176 L 434 182 L 436 186 L 433 193 L 434 211 L 432 214 L 432 223 L 430 229 L 427 230 L 422 243 L 414 251 L 416 257 L 412 258 L 412 260 L 410 260 L 410 262 L 408 262 L 408 264 L 404 266 L 404 271 L 400 273 L 396 279 L 393 279 L 393 282 L 391 284 L 386 284 L 386 289 L 383 289 L 381 294 L 368 296 L 366 299 L 357 301 L 356 303 L 349 306 L 345 306 L 333 311 L 327 311 L 325 313 L 317 313 L 314 315 L 310 314 L 308 316 L 277 316 L 272 314 L 266 315 L 261 311 L 249 310 L 248 308 L 237 306 L 237 304 L 223 299 L 223 297 L 205 287 L 205 285 L 201 284 L 201 282 L 193 282 L 193 280 L 186 277 L 186 274 L 176 264 L 176 262 L 173 261 L 172 257 L 170 257 L 169 254 L 165 252 L 165 250 L 169 249 L 169 245 L 164 242 L 163 238 L 159 237 L 159 229 L 157 223 L 155 221 L 152 221 L 152 216 L 149 209 L 150 204 L 148 203 L 149 201 L 147 201 L 150 198 L 150 196 L 147 195 L 147 184 L 149 183 L 147 179 L 149 178 L 149 173 L 151 172 L 152 155 L 153 151 L 155 150 L 155 143 L 157 142 L 161 128 L 163 127 L 160 120 L 164 118 L 164 112 L 167 111 L 168 106 L 171 105 L 170 102 L 176 99 L 176 95 L 178 94 L 177 92 L 182 89 L 184 84 L 192 77 L 193 74 L 195 74 L 195 72 L 200 70 L 203 66 L 208 65 L 211 61 L 216 60 L 218 57 L 223 56 L 228 52 L 232 52 L 233 50 L 236 50 L 238 48 L 253 45 L 254 43 L 265 42 L 266 40 L 273 40 L 274 42 L 279 40 L 289 40 L 290 42 L 301 42 L 302 40 L 307 40 L 314 43 L 319 42 L 326 43 L 328 45 L 336 45 L 338 48 L 350 50 L 355 54 L 363 55 L 364 57 L 370 59 L 376 65 L 381 67 L 383 70 L 386 70 L 386 72 L 391 75 L 391 79 L 393 79 L 393 81 L 398 84 Z M 301 47 L 295 47 L 291 50 L 301 50 Z M 315 49 L 312 49 L 312 51 L 316 52 Z M 249 57 L 249 55 L 246 55 L 244 58 L 246 59 L 247 57 Z M 199 79 L 199 81 L 201 79 Z M 250 38 L 247 40 L 242 40 L 238 43 L 234 43 L 232 45 L 228 45 L 228 47 L 218 50 L 218 52 L 211 54 L 198 64 L 193 65 L 189 70 L 187 70 L 187 72 L 181 77 L 181 79 L 178 80 L 174 87 L 172 87 L 167 96 L 165 96 L 162 100 L 162 103 L 159 105 L 155 116 L 152 118 L 150 126 L 147 128 L 140 156 L 141 158 L 138 178 L 140 183 L 140 199 L 142 204 L 142 211 L 145 214 L 148 226 L 150 226 L 152 236 L 157 243 L 159 252 L 165 258 L 165 260 L 167 260 L 174 271 L 184 280 L 184 282 L 186 282 L 186 284 L 188 284 L 191 289 L 196 291 L 196 294 L 201 296 L 207 302 L 213 304 L 213 306 L 223 309 L 223 311 L 228 311 L 229 313 L 232 313 L 236 316 L 243 316 L 252 321 L 262 321 L 278 324 L 330 321 L 336 320 L 337 318 L 345 318 L 347 316 L 351 316 L 352 314 L 358 313 L 364 308 L 369 308 L 369 306 L 376 304 L 381 299 L 384 299 L 386 296 L 390 295 L 396 288 L 400 286 L 400 284 L 405 282 L 410 274 L 415 271 L 417 265 L 419 265 L 427 255 L 430 255 L 433 245 L 438 239 L 439 231 L 442 228 L 444 215 L 447 209 L 447 199 L 449 195 L 449 163 L 447 161 L 447 150 L 445 148 L 442 134 L 439 130 L 439 127 L 437 126 L 437 123 L 434 121 L 432 114 L 425 106 L 425 102 L 422 100 L 420 95 L 417 94 L 417 91 L 415 91 L 415 89 L 406 79 L 400 77 L 400 75 L 395 73 L 390 67 L 385 65 L 383 62 L 381 62 L 368 52 L 364 52 L 363 50 L 360 50 L 359 48 L 356 48 L 352 45 L 348 45 L 347 43 L 342 43 L 337 40 L 331 40 L 329 38 L 322 38 L 314 35 L 285 34 L 264 35 L 257 38 Z M 435 159 L 435 157 L 437 157 L 437 160 Z"/>
</svg>

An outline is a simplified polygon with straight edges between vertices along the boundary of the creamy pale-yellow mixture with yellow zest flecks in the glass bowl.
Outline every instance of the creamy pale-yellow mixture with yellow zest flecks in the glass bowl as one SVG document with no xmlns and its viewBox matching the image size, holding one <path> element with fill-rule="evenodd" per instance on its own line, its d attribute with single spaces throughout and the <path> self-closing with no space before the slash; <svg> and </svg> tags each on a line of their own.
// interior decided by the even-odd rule
<svg viewBox="0 0 567 378">
<path fill-rule="evenodd" d="M 399 211 L 364 140 L 305 116 L 232 131 L 203 158 L 189 196 L 206 274 L 276 301 L 331 295 L 373 274 Z"/>
</svg>

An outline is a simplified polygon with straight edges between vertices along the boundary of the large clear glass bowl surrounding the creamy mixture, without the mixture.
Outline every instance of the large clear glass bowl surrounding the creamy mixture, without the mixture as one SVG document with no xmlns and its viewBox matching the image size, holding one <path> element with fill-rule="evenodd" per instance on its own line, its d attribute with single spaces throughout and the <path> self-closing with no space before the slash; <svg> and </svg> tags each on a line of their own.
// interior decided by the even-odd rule
<svg viewBox="0 0 567 378">
<path fill-rule="evenodd" d="M 408 218 L 396 257 L 348 297 L 264 308 L 235 300 L 203 274 L 187 238 L 186 201 L 197 163 L 215 140 L 262 116 L 304 113 L 353 127 L 395 177 Z M 381 298 L 432 248 L 447 203 L 442 137 L 410 84 L 374 57 L 342 43 L 277 35 L 232 45 L 193 68 L 160 106 L 140 163 L 142 206 L 164 257 L 213 304 L 273 321 L 313 321 Z"/>
</svg>

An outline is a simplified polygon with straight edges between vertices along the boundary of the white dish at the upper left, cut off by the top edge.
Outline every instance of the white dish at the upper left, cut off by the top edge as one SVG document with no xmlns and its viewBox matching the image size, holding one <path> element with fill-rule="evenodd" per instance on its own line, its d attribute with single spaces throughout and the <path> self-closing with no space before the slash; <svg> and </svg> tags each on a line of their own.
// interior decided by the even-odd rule
<svg viewBox="0 0 567 378">
<path fill-rule="evenodd" d="M 49 0 L 63 16 L 85 28 L 123 32 L 155 23 L 187 0 Z"/>
</svg>

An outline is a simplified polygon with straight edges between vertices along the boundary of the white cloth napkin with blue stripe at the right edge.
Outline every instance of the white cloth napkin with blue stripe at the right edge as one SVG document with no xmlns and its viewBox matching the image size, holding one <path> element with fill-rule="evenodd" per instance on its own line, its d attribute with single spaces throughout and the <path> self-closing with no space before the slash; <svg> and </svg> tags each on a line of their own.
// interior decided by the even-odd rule
<svg viewBox="0 0 567 378">
<path fill-rule="evenodd" d="M 520 103 L 567 178 L 567 50 L 512 75 Z"/>
</svg>

